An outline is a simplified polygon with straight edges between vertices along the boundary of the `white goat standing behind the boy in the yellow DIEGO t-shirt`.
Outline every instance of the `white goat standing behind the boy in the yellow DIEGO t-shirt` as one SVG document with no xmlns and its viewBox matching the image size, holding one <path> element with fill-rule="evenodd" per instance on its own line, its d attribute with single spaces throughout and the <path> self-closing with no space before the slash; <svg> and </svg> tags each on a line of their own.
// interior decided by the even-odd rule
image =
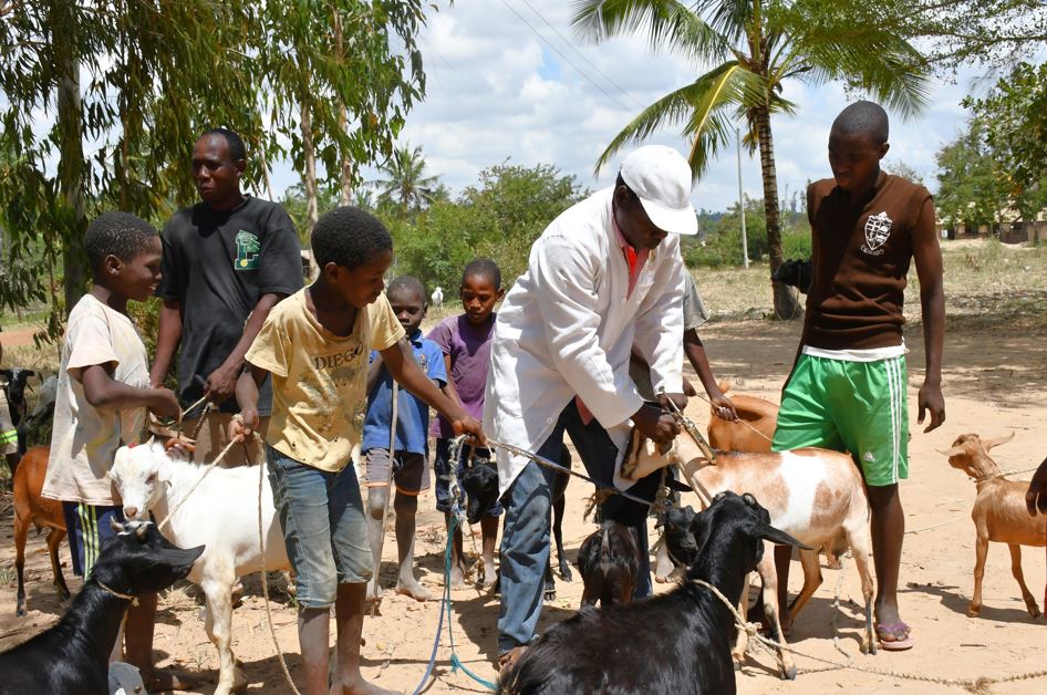
<svg viewBox="0 0 1047 695">
<path fill-rule="evenodd" d="M 147 518 L 149 510 L 157 522 L 180 502 L 200 479 L 204 468 L 164 450 L 164 443 L 153 439 L 116 452 L 110 477 L 116 484 L 128 519 Z M 191 497 L 172 517 L 164 535 L 176 546 L 207 549 L 189 572 L 189 581 L 207 598 L 205 627 L 218 647 L 219 677 L 217 695 L 227 695 L 247 684 L 247 677 L 232 654 L 232 584 L 237 577 L 261 569 L 258 547 L 258 475 L 255 466 L 215 468 Z M 261 511 L 266 531 L 266 570 L 290 569 L 280 520 L 272 506 L 269 476 L 262 474 Z"/>
</svg>

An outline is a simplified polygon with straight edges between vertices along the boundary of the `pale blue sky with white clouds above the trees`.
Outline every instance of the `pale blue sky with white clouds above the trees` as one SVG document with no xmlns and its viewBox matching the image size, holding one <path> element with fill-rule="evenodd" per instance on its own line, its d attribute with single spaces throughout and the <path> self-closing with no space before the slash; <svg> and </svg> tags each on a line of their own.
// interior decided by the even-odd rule
<svg viewBox="0 0 1047 695">
<path fill-rule="evenodd" d="M 421 146 L 427 174 L 439 175 L 454 193 L 477 174 L 507 158 L 514 164 L 553 164 L 590 188 L 613 183 L 616 164 L 599 178 L 593 166 L 611 138 L 644 106 L 680 89 L 709 66 L 694 65 L 665 51 L 652 51 L 644 35 L 591 44 L 576 38 L 566 0 L 456 0 L 440 3 L 419 38 L 426 97 L 407 116 L 400 143 Z M 932 191 L 934 154 L 956 137 L 966 118 L 961 100 L 977 91 L 978 73 L 954 82 L 935 79 L 929 107 L 905 122 L 891 113 L 892 162 L 912 167 Z M 802 191 L 808 179 L 829 176 L 829 126 L 848 103 L 840 84 L 806 86 L 792 80 L 784 93 L 798 104 L 795 116 L 771 120 L 781 198 Z M 656 133 L 649 142 L 686 154 L 678 132 Z M 290 166 L 273 172 L 277 194 L 297 183 Z M 377 178 L 365 170 L 365 179 Z M 763 197 L 758 156 L 743 149 L 745 194 Z M 697 209 L 724 210 L 738 198 L 735 147 L 714 160 L 694 188 Z"/>
</svg>

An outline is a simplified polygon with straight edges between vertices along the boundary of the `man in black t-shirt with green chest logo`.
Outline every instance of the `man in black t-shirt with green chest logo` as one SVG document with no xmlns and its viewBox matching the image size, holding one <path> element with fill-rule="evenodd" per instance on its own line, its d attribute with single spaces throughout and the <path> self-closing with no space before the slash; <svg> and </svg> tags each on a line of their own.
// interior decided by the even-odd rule
<svg viewBox="0 0 1047 695">
<path fill-rule="evenodd" d="M 164 228 L 164 278 L 156 290 L 160 310 L 156 360 L 149 373 L 163 383 L 175 351 L 182 407 L 201 396 L 219 406 L 207 418 L 195 452 L 210 461 L 226 445 L 236 412 L 230 398 L 250 348 L 269 310 L 302 287 L 301 247 L 287 212 L 276 203 L 240 191 L 246 166 L 240 137 L 225 128 L 204 133 L 193 148 L 193 175 L 201 203 L 178 210 Z M 261 432 L 268 425 L 272 390 L 259 395 Z M 189 413 L 193 432 L 200 408 Z M 261 446 L 234 449 L 227 465 L 262 460 Z"/>
</svg>

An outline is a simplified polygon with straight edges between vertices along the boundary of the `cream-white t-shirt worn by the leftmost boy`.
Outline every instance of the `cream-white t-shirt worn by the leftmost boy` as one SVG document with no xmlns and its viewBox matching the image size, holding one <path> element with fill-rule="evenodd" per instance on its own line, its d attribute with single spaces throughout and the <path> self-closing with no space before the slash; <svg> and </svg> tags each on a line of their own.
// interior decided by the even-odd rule
<svg viewBox="0 0 1047 695">
<path fill-rule="evenodd" d="M 138 438 L 145 408 L 100 409 L 87 403 L 83 384 L 71 376 L 84 367 L 113 363 L 113 380 L 149 385 L 145 343 L 129 318 L 83 297 L 69 314 L 62 338 L 54 429 L 43 496 L 90 505 L 117 505 L 120 497 L 105 476 L 121 443 Z"/>
</svg>

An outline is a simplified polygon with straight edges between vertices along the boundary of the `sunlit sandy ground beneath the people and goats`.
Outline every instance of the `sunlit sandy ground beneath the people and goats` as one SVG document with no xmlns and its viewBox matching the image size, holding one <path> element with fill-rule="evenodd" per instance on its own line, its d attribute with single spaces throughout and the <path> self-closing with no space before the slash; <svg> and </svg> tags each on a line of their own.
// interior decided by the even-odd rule
<svg viewBox="0 0 1047 695">
<path fill-rule="evenodd" d="M 735 380 L 735 391 L 778 398 L 781 382 L 791 364 L 798 339 L 797 324 L 750 321 L 717 324 L 703 332 L 713 366 L 722 377 Z M 971 330 L 966 330 L 971 329 Z M 1045 448 L 1037 437 L 1047 419 L 1047 345 L 1041 335 L 1017 330 L 983 329 L 974 322 L 967 326 L 950 324 L 945 357 L 944 388 L 947 422 L 931 434 L 915 427 L 916 390 L 922 378 L 922 340 L 919 326 L 908 331 L 913 365 L 910 374 L 910 444 L 911 477 L 902 487 L 909 533 L 902 558 L 901 603 L 903 618 L 913 626 L 916 646 L 910 652 L 863 656 L 859 653 L 861 613 L 860 591 L 853 564 L 844 568 L 840 584 L 837 633 L 840 647 L 865 668 L 891 670 L 935 678 L 999 677 L 1047 668 L 1047 622 L 1033 621 L 1025 611 L 1017 585 L 1010 575 L 1008 554 L 993 546 L 985 577 L 985 606 L 979 619 L 968 619 L 964 610 L 970 600 L 974 566 L 974 530 L 970 509 L 974 484 L 946 464 L 935 448 L 947 448 L 962 433 L 998 436 L 1016 431 L 1015 439 L 996 450 L 1004 469 L 1020 470 L 1041 460 Z M 704 426 L 707 407 L 693 401 L 690 413 Z M 1015 476 L 1028 479 L 1030 474 Z M 591 489 L 574 480 L 568 488 L 568 512 L 564 540 L 573 559 L 581 540 L 592 526 L 581 519 L 585 498 Z M 417 550 L 418 574 L 433 595 L 442 591 L 443 520 L 433 511 L 432 494 L 423 495 Z M 51 624 L 63 606 L 54 599 L 43 537 L 30 539 L 28 592 L 30 614 L 14 618 L 14 581 L 11 566 L 10 510 L 3 511 L 0 531 L 0 649 L 30 636 Z M 477 539 L 478 541 L 478 539 Z M 468 542 L 468 541 L 467 541 Z M 63 546 L 63 553 L 68 553 Z M 394 579 L 395 540 L 390 532 L 385 543 L 382 574 L 387 585 Z M 68 559 L 68 554 L 63 556 Z M 791 589 L 801 582 L 798 563 L 794 563 Z M 1045 559 L 1043 549 L 1027 549 L 1025 574 L 1037 597 L 1043 597 Z M 66 563 L 66 575 L 69 567 Z M 798 650 L 823 658 L 840 661 L 833 647 L 835 589 L 838 571 L 823 569 L 825 583 L 799 616 L 791 635 Z M 576 572 L 577 577 L 577 572 Z M 75 591 L 79 581 L 70 582 Z M 247 581 L 248 595 L 235 612 L 234 634 L 237 655 L 250 678 L 251 693 L 289 692 L 265 623 L 265 609 L 258 593 L 257 575 Z M 571 615 L 581 595 L 581 582 L 558 582 L 557 600 L 547 603 L 541 629 Z M 660 591 L 667 590 L 660 587 Z M 162 665 L 200 671 L 214 677 L 217 657 L 199 619 L 199 592 L 178 587 L 162 600 L 157 618 L 155 650 Z M 274 623 L 291 673 L 300 671 L 294 610 L 287 599 L 276 593 Z M 475 589 L 453 592 L 452 626 L 460 660 L 481 677 L 494 678 L 497 653 L 496 621 L 498 599 Z M 439 615 L 438 601 L 421 604 L 404 597 L 386 593 L 382 615 L 369 619 L 364 626 L 363 647 L 365 675 L 376 683 L 400 691 L 413 692 L 427 664 Z M 656 629 L 656 626 L 654 626 Z M 643 649 L 637 644 L 636 649 Z M 652 655 L 652 658 L 657 658 Z M 800 675 L 795 682 L 778 678 L 770 654 L 751 655 L 738 674 L 743 693 L 767 692 L 921 692 L 957 691 L 956 686 L 920 683 L 874 675 L 854 670 L 811 673 L 822 667 L 817 662 L 798 657 Z M 1041 693 L 1047 680 L 997 685 L 997 693 Z M 201 688 L 210 693 L 212 686 Z M 484 692 L 483 686 L 462 672 L 452 673 L 447 626 L 437 652 L 435 681 L 426 692 Z"/>
</svg>

